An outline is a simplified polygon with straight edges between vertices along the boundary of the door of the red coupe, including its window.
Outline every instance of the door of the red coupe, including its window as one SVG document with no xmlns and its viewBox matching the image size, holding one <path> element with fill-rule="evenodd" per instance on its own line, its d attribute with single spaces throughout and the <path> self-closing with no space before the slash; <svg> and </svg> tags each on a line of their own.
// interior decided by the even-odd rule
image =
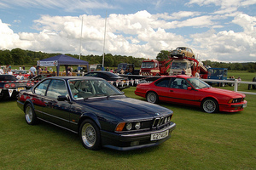
<svg viewBox="0 0 256 170">
<path fill-rule="evenodd" d="M 186 105 L 195 105 L 195 90 L 186 79 L 181 77 L 172 77 L 169 90 L 166 92 L 170 101 Z"/>
</svg>

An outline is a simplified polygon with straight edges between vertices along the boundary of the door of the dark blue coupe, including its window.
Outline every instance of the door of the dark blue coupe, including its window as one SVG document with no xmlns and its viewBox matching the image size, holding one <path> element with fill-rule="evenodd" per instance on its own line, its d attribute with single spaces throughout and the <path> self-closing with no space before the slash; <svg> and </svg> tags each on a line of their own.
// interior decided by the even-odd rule
<svg viewBox="0 0 256 170">
<path fill-rule="evenodd" d="M 61 127 L 69 127 L 69 115 L 71 104 L 69 101 L 58 101 L 58 96 L 67 96 L 67 85 L 63 80 L 53 79 L 49 83 L 44 97 L 44 114 L 49 122 L 53 122 Z"/>
</svg>

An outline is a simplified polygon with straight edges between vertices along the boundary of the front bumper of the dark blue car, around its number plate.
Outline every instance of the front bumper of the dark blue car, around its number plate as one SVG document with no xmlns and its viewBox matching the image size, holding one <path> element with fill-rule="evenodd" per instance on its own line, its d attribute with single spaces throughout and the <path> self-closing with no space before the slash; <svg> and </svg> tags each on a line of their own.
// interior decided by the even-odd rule
<svg viewBox="0 0 256 170">
<path fill-rule="evenodd" d="M 174 122 L 170 122 L 167 127 L 160 130 L 150 130 L 141 133 L 110 133 L 101 131 L 102 146 L 113 150 L 136 150 L 145 147 L 151 147 L 165 142 L 171 138 L 172 131 L 176 128 Z M 169 131 L 168 136 L 164 139 L 150 140 L 151 134 L 163 133 Z"/>
</svg>

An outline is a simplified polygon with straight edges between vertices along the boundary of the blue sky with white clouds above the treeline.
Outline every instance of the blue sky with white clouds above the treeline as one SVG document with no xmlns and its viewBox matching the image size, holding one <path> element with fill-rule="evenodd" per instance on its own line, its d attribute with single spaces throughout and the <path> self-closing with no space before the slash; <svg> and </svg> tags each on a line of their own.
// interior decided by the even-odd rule
<svg viewBox="0 0 256 170">
<path fill-rule="evenodd" d="M 2 50 L 156 59 L 177 47 L 256 62 L 256 0 L 0 1 Z"/>
</svg>

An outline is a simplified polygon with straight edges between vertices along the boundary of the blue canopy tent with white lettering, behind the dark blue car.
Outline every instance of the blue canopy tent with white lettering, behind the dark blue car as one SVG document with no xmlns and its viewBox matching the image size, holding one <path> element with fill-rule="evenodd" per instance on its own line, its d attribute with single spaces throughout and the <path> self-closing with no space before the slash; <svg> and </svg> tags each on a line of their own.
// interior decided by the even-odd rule
<svg viewBox="0 0 256 170">
<path fill-rule="evenodd" d="M 60 65 L 65 65 L 66 75 L 67 75 L 68 65 L 87 65 L 87 70 L 89 68 L 88 61 L 76 59 L 64 54 L 56 55 L 54 57 L 49 57 L 47 59 L 38 60 L 38 66 L 56 66 L 57 76 L 59 76 L 59 73 L 60 73 Z"/>
</svg>

